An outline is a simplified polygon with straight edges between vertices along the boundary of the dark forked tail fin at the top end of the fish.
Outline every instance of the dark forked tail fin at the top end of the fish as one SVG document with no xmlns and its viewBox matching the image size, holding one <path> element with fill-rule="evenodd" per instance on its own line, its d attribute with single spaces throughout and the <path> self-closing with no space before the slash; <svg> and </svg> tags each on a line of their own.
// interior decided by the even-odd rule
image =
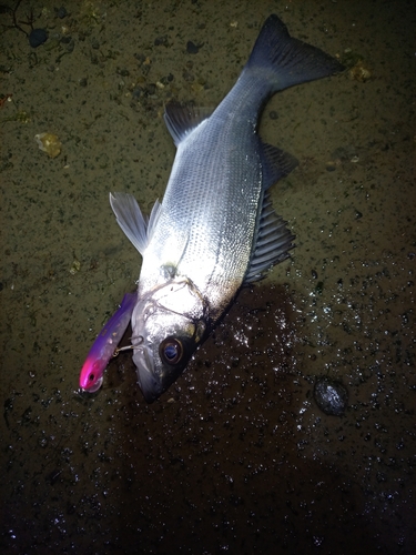
<svg viewBox="0 0 416 555">
<path fill-rule="evenodd" d="M 267 79 L 276 92 L 338 73 L 344 67 L 318 48 L 293 39 L 283 21 L 272 14 L 260 31 L 245 69 L 263 75 L 267 70 Z"/>
</svg>

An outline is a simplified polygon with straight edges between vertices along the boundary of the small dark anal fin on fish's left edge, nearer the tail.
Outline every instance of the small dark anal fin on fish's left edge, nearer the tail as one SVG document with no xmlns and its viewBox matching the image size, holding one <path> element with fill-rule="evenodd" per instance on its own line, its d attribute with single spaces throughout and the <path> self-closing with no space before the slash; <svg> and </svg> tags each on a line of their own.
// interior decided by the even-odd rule
<svg viewBox="0 0 416 555">
<path fill-rule="evenodd" d="M 163 118 L 175 145 L 177 147 L 200 123 L 210 118 L 213 111 L 212 108 L 196 108 L 177 102 L 166 104 Z"/>
</svg>

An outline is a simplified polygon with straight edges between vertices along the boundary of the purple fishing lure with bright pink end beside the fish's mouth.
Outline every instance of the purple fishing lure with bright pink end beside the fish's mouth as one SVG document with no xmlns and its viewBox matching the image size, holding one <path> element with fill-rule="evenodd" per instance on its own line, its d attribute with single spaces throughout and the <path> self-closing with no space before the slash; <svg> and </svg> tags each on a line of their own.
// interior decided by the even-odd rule
<svg viewBox="0 0 416 555">
<path fill-rule="evenodd" d="M 104 370 L 128 329 L 138 293 L 125 293 L 120 309 L 99 333 L 80 374 L 80 387 L 89 393 L 98 391 L 104 380 Z"/>
</svg>

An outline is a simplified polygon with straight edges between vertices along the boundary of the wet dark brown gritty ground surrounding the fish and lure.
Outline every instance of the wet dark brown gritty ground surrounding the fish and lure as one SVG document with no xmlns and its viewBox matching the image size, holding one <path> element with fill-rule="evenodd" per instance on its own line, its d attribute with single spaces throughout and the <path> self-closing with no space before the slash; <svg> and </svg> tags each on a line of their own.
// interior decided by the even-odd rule
<svg viewBox="0 0 416 555">
<path fill-rule="evenodd" d="M 2 553 L 414 554 L 414 2 L 23 0 L 14 22 L 7 6 Z M 140 271 L 109 191 L 162 198 L 164 102 L 219 103 L 272 12 L 348 68 L 264 112 L 300 160 L 273 189 L 293 256 L 154 404 L 129 353 L 81 395 Z M 347 391 L 342 416 L 315 401 L 323 377 Z"/>
</svg>

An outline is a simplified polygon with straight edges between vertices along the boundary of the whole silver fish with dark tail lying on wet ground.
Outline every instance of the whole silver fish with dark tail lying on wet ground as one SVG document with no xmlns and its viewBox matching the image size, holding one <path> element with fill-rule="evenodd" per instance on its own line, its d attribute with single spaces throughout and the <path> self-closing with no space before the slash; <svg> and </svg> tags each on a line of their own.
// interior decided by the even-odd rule
<svg viewBox="0 0 416 555">
<path fill-rule="evenodd" d="M 110 193 L 116 222 L 142 256 L 131 343 L 149 403 L 182 374 L 241 287 L 261 280 L 294 248 L 270 188 L 297 160 L 260 138 L 265 102 L 343 69 L 270 16 L 216 109 L 166 104 L 176 153 L 163 201 L 150 216 L 132 194 Z"/>
</svg>

